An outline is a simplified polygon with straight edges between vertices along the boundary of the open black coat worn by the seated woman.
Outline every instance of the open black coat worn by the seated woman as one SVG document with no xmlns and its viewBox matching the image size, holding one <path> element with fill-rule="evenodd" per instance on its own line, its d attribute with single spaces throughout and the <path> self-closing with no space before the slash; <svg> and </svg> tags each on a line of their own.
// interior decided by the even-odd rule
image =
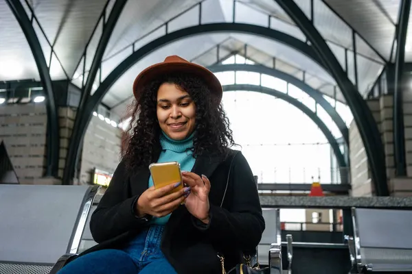
<svg viewBox="0 0 412 274">
<path fill-rule="evenodd" d="M 179 274 L 222 273 L 218 253 L 225 257 L 225 269 L 229 270 L 240 262 L 243 253 L 254 250 L 262 237 L 265 223 L 255 179 L 242 153 L 232 150 L 226 159 L 199 156 L 192 172 L 206 175 L 211 182 L 209 225 L 200 225 L 184 205 L 179 206 L 165 225 L 161 250 Z M 122 249 L 149 225 L 133 214 L 134 201 L 148 188 L 149 176 L 148 167 L 130 175 L 120 162 L 91 216 L 91 234 L 98 245 L 82 254 Z"/>
</svg>

